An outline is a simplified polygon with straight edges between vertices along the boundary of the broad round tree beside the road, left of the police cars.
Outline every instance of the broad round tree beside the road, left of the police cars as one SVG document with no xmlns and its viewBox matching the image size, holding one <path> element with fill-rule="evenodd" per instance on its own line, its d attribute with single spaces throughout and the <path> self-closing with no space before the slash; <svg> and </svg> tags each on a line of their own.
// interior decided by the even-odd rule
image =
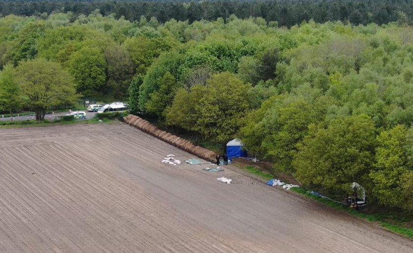
<svg viewBox="0 0 413 253">
<path fill-rule="evenodd" d="M 47 109 L 71 106 L 79 98 L 72 77 L 56 62 L 42 58 L 22 62 L 17 76 L 36 120 L 43 120 Z"/>
</svg>

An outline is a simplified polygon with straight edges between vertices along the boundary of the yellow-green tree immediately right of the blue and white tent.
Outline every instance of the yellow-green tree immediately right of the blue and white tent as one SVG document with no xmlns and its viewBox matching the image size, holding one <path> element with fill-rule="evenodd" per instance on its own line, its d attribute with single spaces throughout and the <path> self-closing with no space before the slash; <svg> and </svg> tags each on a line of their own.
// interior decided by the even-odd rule
<svg viewBox="0 0 413 253">
<path fill-rule="evenodd" d="M 324 97 L 311 103 L 302 96 L 271 97 L 248 115 L 239 137 L 250 152 L 271 158 L 275 169 L 294 171 L 296 145 L 308 133 L 308 125 L 323 119 L 329 103 Z"/>
</svg>

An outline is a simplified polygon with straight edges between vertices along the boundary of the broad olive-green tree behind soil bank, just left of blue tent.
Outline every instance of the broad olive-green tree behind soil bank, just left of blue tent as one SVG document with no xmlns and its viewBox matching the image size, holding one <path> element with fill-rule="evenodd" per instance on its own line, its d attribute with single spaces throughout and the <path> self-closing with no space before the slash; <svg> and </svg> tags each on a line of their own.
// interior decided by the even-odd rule
<svg viewBox="0 0 413 253">
<path fill-rule="evenodd" d="M 198 132 L 204 139 L 226 143 L 235 136 L 249 109 L 249 88 L 234 74 L 215 74 L 207 86 L 195 85 L 190 92 L 179 90 L 168 109 L 167 122 Z"/>
</svg>

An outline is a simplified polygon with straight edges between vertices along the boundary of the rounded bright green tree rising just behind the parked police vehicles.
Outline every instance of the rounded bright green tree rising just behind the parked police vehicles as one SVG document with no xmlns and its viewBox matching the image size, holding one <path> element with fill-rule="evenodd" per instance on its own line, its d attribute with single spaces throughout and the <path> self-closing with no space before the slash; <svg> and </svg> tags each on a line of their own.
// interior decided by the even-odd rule
<svg viewBox="0 0 413 253">
<path fill-rule="evenodd" d="M 78 92 L 96 92 L 106 82 L 106 61 L 98 48 L 84 47 L 70 56 L 69 72 L 75 79 Z"/>
</svg>

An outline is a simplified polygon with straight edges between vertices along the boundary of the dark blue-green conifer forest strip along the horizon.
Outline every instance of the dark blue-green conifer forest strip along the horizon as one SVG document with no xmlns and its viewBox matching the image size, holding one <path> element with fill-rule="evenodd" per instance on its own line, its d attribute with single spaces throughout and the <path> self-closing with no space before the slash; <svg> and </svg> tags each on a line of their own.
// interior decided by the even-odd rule
<svg viewBox="0 0 413 253">
<path fill-rule="evenodd" d="M 32 0 L 0 1 L 2 16 L 9 14 L 40 16 L 43 13 L 72 12 L 76 16 L 89 15 L 99 9 L 100 14 L 112 13 L 117 18 L 138 21 L 142 15 L 155 17 L 165 23 L 171 19 L 189 23 L 200 20 L 214 21 L 228 18 L 262 17 L 266 22 L 276 21 L 280 26 L 291 27 L 313 19 L 350 22 L 354 25 L 394 21 L 411 23 L 413 2 L 410 0 L 267 0 L 267 1 L 136 1 L 136 0 Z"/>
</svg>

